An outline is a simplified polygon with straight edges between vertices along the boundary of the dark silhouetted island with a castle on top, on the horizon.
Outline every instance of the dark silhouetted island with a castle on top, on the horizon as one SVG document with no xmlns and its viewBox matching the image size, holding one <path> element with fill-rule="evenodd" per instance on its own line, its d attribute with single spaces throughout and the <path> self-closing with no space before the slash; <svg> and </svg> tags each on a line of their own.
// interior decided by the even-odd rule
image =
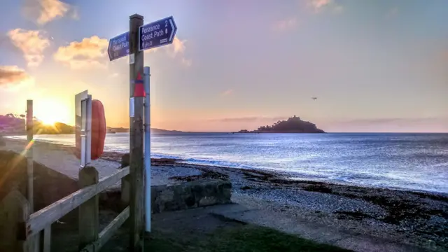
<svg viewBox="0 0 448 252">
<path fill-rule="evenodd" d="M 258 130 L 240 130 L 237 133 L 325 133 L 318 129 L 314 123 L 301 120 L 298 116 L 288 118 L 288 120 L 279 120 L 272 126 L 261 126 Z"/>
</svg>

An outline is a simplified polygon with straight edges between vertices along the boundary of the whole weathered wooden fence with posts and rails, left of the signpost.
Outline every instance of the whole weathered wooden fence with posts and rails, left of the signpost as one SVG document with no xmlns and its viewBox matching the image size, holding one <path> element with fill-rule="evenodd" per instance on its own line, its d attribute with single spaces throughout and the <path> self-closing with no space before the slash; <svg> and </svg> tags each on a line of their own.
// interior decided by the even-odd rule
<svg viewBox="0 0 448 252">
<path fill-rule="evenodd" d="M 130 206 L 128 206 L 104 230 L 99 232 L 99 193 L 120 180 L 125 183 L 125 179 L 128 179 L 127 176 L 130 176 L 130 167 L 119 169 L 111 176 L 99 180 L 97 169 L 85 167 L 79 172 L 80 189 L 75 193 L 33 214 L 29 214 L 27 210 L 29 209 L 29 203 L 28 206 L 21 204 L 19 209 L 23 214 L 19 218 L 16 244 L 25 244 L 25 246 L 15 245 L 18 246 L 16 251 L 50 252 L 52 223 L 76 208 L 79 208 L 78 246 L 80 251 L 99 251 L 113 233 L 130 217 Z M 20 199 L 20 202 L 23 202 L 24 199 Z M 139 210 L 142 211 L 142 209 Z M 136 216 L 135 218 L 139 217 Z M 134 232 L 132 228 L 130 228 L 130 232 Z M 41 239 L 41 235 L 43 235 L 43 239 Z M 135 235 L 131 235 L 131 237 L 134 238 Z"/>
</svg>

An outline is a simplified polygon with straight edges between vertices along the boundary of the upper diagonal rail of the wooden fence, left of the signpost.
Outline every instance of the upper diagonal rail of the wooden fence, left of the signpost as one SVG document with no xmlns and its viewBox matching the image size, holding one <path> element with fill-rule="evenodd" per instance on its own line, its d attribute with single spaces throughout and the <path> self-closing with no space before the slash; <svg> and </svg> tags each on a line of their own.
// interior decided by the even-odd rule
<svg viewBox="0 0 448 252">
<path fill-rule="evenodd" d="M 130 173 L 130 168 L 125 167 L 119 169 L 117 172 L 109 177 L 100 179 L 97 185 L 87 186 L 86 188 L 81 188 L 75 193 L 68 195 L 57 202 L 50 204 L 50 206 L 36 211 L 36 213 L 31 214 L 27 223 L 25 223 L 25 229 L 27 230 L 27 237 L 36 235 L 39 231 L 43 230 L 47 225 L 54 223 L 55 221 L 62 218 L 64 215 L 68 214 L 80 204 L 83 204 L 87 200 L 90 200 L 94 195 L 101 193 L 104 189 L 109 186 L 115 185 L 123 176 Z"/>
</svg>

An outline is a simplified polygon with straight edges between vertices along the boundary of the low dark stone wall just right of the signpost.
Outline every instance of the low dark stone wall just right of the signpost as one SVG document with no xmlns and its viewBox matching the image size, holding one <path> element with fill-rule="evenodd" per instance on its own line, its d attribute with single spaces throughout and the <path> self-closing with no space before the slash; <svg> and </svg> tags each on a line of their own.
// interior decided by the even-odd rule
<svg viewBox="0 0 448 252">
<path fill-rule="evenodd" d="M 153 213 L 230 203 L 232 183 L 221 179 L 200 179 L 174 185 L 151 187 Z"/>
</svg>

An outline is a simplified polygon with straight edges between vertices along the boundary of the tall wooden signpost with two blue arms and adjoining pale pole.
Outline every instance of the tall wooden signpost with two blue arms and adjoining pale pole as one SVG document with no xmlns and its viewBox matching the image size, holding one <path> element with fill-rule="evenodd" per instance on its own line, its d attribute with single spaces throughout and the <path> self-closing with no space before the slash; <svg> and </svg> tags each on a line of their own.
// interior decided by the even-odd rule
<svg viewBox="0 0 448 252">
<path fill-rule="evenodd" d="M 111 38 L 107 49 L 111 61 L 130 55 L 131 251 L 142 249 L 144 213 L 146 213 L 146 231 L 151 231 L 150 73 L 149 67 L 144 70 L 143 51 L 173 43 L 176 31 L 173 17 L 143 25 L 143 16 L 134 14 L 130 16 L 130 31 Z M 144 144 L 144 137 L 146 144 Z"/>
</svg>

